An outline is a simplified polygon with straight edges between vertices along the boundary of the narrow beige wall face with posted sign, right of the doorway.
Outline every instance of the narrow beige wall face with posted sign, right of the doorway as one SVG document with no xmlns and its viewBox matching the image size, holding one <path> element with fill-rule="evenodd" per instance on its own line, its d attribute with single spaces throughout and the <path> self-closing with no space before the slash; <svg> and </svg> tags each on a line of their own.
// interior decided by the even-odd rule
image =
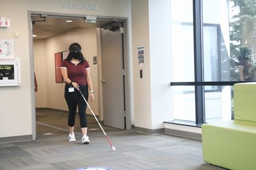
<svg viewBox="0 0 256 170">
<path fill-rule="evenodd" d="M 132 1 L 132 56 L 134 75 L 134 125 L 151 128 L 150 47 L 148 0 Z M 140 16 L 140 17 L 138 17 Z M 145 47 L 145 65 L 138 66 L 138 47 Z M 143 70 L 143 79 L 140 78 Z M 136 86 L 135 86 L 136 85 Z"/>
</svg>

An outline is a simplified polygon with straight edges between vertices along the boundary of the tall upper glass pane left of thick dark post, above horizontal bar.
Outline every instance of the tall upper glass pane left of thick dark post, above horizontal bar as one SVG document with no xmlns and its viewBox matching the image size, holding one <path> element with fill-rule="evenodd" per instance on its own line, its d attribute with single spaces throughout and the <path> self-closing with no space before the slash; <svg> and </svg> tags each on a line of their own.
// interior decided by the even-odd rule
<svg viewBox="0 0 256 170">
<path fill-rule="evenodd" d="M 173 81 L 195 81 L 193 1 L 173 0 L 171 7 Z M 194 89 L 193 87 L 191 88 L 191 90 Z"/>
</svg>

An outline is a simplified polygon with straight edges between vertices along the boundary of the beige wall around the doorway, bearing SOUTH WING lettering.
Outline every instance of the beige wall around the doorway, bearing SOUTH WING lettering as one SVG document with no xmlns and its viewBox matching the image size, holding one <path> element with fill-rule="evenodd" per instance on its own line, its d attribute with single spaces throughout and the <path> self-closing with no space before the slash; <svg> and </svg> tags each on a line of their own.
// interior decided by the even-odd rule
<svg viewBox="0 0 256 170">
<path fill-rule="evenodd" d="M 29 35 L 29 29 L 31 29 L 31 24 L 28 23 L 28 12 L 65 13 L 65 15 L 98 15 L 101 17 L 126 17 L 128 22 L 131 23 L 130 0 L 72 1 L 72 3 L 99 5 L 99 11 L 63 8 L 63 2 L 63 0 L 0 1 L 0 16 L 8 17 L 11 20 L 10 28 L 0 28 L 0 37 L 13 39 L 14 31 L 19 32 L 19 38 L 14 39 L 14 50 L 15 58 L 20 58 L 21 63 L 21 86 L 0 88 L 0 137 L 33 134 L 33 126 L 35 125 L 33 125 L 33 121 L 35 122 L 33 119 L 35 119 L 35 115 L 33 116 L 34 88 L 32 83 L 33 80 L 31 80 L 31 78 L 33 78 L 34 70 L 33 54 L 30 54 L 30 50 L 32 51 L 32 49 L 29 49 L 29 38 L 31 37 L 31 35 Z M 131 35 L 131 25 L 129 25 L 128 31 L 129 35 Z M 129 40 L 130 39 L 131 36 L 129 37 Z M 51 49 L 49 45 L 45 45 L 45 48 Z M 131 54 L 131 52 L 129 52 L 129 54 Z M 52 54 L 49 55 L 52 56 Z M 52 65 L 49 60 L 45 60 L 45 64 L 49 66 Z M 50 73 L 47 72 L 46 76 L 48 79 Z M 51 77 L 49 81 L 52 81 Z M 51 82 L 47 84 L 47 86 L 49 85 L 51 85 Z M 53 96 L 50 96 L 50 98 L 51 97 Z M 51 104 L 49 105 L 51 107 Z"/>
</svg>

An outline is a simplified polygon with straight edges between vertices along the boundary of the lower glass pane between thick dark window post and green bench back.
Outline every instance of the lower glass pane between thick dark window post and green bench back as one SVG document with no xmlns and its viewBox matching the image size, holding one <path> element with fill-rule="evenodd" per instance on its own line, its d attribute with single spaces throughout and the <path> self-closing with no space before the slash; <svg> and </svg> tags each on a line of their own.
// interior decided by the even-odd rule
<svg viewBox="0 0 256 170">
<path fill-rule="evenodd" d="M 220 91 L 205 92 L 205 122 L 232 120 L 232 86 L 219 86 Z"/>
</svg>

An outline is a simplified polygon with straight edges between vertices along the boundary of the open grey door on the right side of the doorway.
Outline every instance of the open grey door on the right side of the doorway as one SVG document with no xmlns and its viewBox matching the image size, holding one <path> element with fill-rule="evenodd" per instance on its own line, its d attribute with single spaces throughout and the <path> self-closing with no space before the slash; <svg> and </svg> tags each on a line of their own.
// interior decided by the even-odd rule
<svg viewBox="0 0 256 170">
<path fill-rule="evenodd" d="M 101 30 L 104 125 L 125 128 L 123 45 L 120 31 Z"/>
</svg>

